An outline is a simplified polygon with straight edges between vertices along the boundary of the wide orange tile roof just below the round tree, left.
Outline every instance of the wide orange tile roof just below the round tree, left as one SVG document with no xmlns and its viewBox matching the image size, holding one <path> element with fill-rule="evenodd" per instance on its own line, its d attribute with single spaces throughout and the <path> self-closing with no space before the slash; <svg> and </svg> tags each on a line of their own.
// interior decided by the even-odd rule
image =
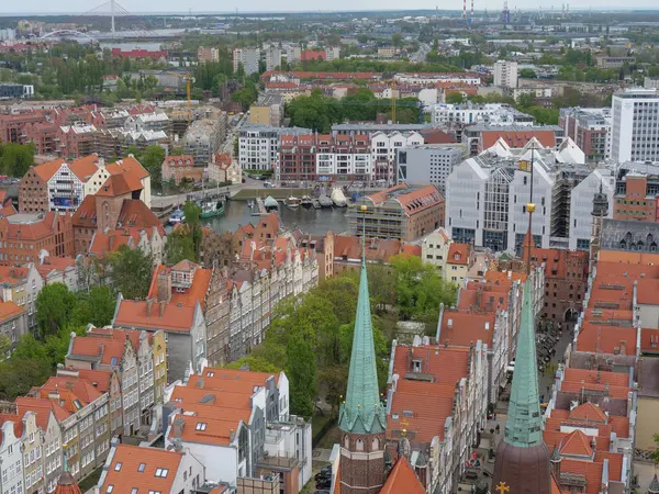
<svg viewBox="0 0 659 494">
<path fill-rule="evenodd" d="M 159 304 L 152 303 L 150 314 L 147 314 L 146 301 L 122 300 L 114 325 L 135 329 L 188 333 L 193 322 L 194 306 L 166 304 L 160 315 Z"/>
</svg>

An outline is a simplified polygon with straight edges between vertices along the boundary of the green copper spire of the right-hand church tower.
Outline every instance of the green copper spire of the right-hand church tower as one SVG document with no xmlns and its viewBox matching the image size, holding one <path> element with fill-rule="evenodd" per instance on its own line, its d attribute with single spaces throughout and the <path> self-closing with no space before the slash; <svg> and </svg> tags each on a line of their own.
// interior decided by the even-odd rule
<svg viewBox="0 0 659 494">
<path fill-rule="evenodd" d="M 530 448 L 543 442 L 530 278 L 527 277 L 524 284 L 522 323 L 504 435 L 509 445 L 520 448 Z"/>
</svg>

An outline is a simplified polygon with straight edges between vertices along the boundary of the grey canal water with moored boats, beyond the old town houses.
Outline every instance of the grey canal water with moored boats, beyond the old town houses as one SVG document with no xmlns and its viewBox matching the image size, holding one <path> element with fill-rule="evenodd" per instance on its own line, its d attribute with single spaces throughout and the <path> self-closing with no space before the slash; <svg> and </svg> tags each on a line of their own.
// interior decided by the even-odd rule
<svg viewBox="0 0 659 494">
<path fill-rule="evenodd" d="M 298 207 L 291 210 L 279 203 L 279 214 L 284 227 L 293 229 L 299 227 L 302 232 L 312 235 L 322 235 L 327 231 L 344 233 L 348 229 L 347 207 L 327 207 L 314 210 Z M 227 201 L 222 216 L 202 220 L 204 225 L 211 226 L 215 232 L 235 232 L 241 225 L 256 224 L 259 216 L 252 216 L 252 211 L 244 201 Z"/>
</svg>

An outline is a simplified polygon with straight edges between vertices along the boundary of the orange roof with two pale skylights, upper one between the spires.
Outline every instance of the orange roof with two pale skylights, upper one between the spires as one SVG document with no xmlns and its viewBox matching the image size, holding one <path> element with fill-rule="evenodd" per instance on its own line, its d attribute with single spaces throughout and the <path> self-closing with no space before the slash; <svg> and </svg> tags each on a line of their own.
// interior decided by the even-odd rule
<svg viewBox="0 0 659 494">
<path fill-rule="evenodd" d="M 446 310 L 442 318 L 439 343 L 451 347 L 467 347 L 481 340 L 492 348 L 494 313 L 479 314 L 471 311 Z"/>
</svg>

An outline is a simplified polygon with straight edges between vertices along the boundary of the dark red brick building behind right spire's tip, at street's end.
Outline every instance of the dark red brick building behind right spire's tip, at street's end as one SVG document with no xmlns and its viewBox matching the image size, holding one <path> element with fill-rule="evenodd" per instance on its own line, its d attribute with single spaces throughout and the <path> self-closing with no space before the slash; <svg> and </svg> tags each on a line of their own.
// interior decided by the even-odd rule
<svg viewBox="0 0 659 494">
<path fill-rule="evenodd" d="M 526 249 L 523 256 L 527 261 Z M 545 265 L 543 317 L 555 323 L 576 322 L 588 289 L 589 252 L 533 247 L 530 259 Z"/>
</svg>

